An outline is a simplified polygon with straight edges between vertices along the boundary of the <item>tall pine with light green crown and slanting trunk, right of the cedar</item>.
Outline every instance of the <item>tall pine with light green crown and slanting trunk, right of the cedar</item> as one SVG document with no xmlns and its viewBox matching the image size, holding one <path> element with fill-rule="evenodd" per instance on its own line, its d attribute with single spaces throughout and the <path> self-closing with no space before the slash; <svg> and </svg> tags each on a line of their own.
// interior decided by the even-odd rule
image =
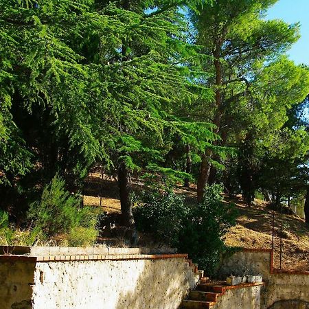
<svg viewBox="0 0 309 309">
<path fill-rule="evenodd" d="M 207 113 L 216 125 L 221 144 L 227 144 L 229 114 L 227 109 L 242 98 L 253 98 L 252 81 L 264 64 L 283 54 L 299 37 L 298 25 L 283 21 L 267 21 L 264 13 L 276 0 L 213 1 L 209 6 L 198 7 L 192 20 L 198 31 L 197 42 L 210 58 L 213 78 L 205 83 L 216 93 L 214 103 Z M 211 148 L 205 149 L 198 177 L 198 199 L 211 169 Z"/>
</svg>

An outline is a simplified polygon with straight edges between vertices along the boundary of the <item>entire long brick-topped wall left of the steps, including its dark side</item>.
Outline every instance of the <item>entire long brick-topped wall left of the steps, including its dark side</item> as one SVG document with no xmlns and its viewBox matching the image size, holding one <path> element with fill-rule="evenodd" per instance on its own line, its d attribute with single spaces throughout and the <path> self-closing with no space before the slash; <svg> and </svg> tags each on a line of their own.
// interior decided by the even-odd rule
<svg viewBox="0 0 309 309">
<path fill-rule="evenodd" d="M 113 252 L 0 255 L 0 308 L 174 309 L 198 282 L 187 255 Z"/>
</svg>

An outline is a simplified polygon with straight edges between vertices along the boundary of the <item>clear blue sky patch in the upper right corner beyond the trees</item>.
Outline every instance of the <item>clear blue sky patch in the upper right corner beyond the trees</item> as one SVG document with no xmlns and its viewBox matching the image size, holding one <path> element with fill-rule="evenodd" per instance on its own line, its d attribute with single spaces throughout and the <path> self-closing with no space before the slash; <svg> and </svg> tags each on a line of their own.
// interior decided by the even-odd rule
<svg viewBox="0 0 309 309">
<path fill-rule="evenodd" d="M 288 51 L 297 64 L 309 65 L 309 0 L 279 0 L 268 11 L 267 19 L 283 19 L 287 23 L 301 24 L 301 38 Z"/>
</svg>

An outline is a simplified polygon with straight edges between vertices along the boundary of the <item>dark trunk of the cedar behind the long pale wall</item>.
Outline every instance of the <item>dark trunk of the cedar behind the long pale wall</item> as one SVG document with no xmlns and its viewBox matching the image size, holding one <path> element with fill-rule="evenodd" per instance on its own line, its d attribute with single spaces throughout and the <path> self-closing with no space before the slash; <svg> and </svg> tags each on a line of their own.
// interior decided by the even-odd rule
<svg viewBox="0 0 309 309">
<path fill-rule="evenodd" d="M 130 201 L 129 173 L 124 163 L 121 163 L 118 169 L 118 185 L 122 209 L 122 225 L 125 227 L 132 227 L 134 225 L 134 218 L 132 203 Z"/>
</svg>

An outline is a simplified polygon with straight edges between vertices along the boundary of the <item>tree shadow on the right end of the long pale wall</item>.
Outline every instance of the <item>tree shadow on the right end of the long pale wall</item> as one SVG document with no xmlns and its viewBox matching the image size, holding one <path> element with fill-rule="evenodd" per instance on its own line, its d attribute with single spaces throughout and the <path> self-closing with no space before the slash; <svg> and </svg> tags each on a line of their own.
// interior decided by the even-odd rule
<svg viewBox="0 0 309 309">
<path fill-rule="evenodd" d="M 190 288 L 185 271 L 176 271 L 176 265 L 168 260 L 149 261 L 156 267 L 144 267 L 133 291 L 121 293 L 115 309 L 176 309 Z M 169 260 L 172 262 L 171 260 Z M 176 261 L 174 261 L 176 262 Z M 185 263 L 184 261 L 182 262 Z M 175 267 L 175 268 L 174 268 Z M 154 270 L 155 268 L 155 270 Z M 132 270 L 133 271 L 133 270 Z"/>
</svg>

